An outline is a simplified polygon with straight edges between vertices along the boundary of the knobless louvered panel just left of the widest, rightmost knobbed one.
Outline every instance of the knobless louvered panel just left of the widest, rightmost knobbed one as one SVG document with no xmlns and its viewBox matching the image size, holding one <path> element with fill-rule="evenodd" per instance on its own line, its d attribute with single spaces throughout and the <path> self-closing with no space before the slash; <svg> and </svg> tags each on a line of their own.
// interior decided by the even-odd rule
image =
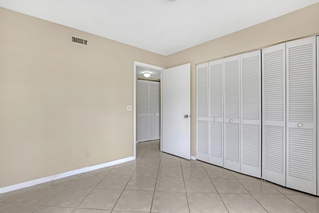
<svg viewBox="0 0 319 213">
<path fill-rule="evenodd" d="M 286 43 L 262 49 L 262 176 L 286 186 Z"/>
</svg>

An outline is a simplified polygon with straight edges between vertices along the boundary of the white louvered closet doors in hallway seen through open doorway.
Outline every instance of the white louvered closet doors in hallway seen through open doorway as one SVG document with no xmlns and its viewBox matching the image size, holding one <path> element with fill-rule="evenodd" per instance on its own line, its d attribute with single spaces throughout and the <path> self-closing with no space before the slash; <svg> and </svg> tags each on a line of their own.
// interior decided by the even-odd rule
<svg viewBox="0 0 319 213">
<path fill-rule="evenodd" d="M 160 82 L 138 79 L 138 142 L 160 139 Z"/>
</svg>

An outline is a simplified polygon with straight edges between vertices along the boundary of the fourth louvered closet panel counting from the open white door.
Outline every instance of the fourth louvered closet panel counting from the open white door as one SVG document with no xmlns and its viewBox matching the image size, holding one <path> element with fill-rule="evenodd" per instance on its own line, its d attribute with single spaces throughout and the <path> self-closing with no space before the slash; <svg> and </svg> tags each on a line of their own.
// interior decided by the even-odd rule
<svg viewBox="0 0 319 213">
<path fill-rule="evenodd" d="M 240 172 L 261 178 L 261 50 L 240 55 Z"/>
</svg>

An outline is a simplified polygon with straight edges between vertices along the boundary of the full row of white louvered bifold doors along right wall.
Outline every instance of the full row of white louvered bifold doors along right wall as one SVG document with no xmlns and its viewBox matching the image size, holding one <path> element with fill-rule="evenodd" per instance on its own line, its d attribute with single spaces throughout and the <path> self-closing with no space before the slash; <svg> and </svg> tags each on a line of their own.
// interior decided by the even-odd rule
<svg viewBox="0 0 319 213">
<path fill-rule="evenodd" d="M 196 159 L 317 194 L 316 37 L 196 65 Z"/>
</svg>

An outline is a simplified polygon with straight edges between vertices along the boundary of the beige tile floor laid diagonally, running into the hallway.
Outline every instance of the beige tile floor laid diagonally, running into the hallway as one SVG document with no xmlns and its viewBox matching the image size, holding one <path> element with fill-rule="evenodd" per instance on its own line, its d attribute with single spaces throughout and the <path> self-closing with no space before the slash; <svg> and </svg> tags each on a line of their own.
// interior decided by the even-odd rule
<svg viewBox="0 0 319 213">
<path fill-rule="evenodd" d="M 319 213 L 319 198 L 137 144 L 137 160 L 0 195 L 0 213 Z"/>
</svg>

